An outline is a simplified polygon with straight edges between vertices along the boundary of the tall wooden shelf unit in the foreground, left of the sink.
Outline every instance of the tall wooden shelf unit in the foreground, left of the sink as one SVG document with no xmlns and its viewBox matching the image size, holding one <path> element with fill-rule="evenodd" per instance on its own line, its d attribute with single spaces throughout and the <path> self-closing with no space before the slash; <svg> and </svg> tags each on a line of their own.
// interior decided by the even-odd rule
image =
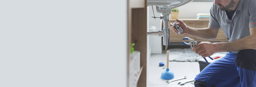
<svg viewBox="0 0 256 87">
<path fill-rule="evenodd" d="M 147 0 L 128 0 L 128 86 L 147 86 Z M 135 79 L 130 73 L 131 43 L 135 43 L 134 50 L 140 51 L 140 71 Z M 132 77 L 132 78 L 131 78 Z M 136 81 L 134 81 L 136 80 Z M 135 83 L 135 84 L 134 84 Z"/>
</svg>

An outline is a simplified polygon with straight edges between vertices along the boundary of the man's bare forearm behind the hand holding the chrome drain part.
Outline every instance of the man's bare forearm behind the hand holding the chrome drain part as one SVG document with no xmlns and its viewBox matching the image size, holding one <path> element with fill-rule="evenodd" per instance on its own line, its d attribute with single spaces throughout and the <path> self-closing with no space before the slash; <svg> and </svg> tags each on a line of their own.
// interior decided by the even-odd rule
<svg viewBox="0 0 256 87">
<path fill-rule="evenodd" d="M 197 29 L 197 28 L 191 28 L 191 27 L 187 27 L 187 32 L 186 34 L 189 34 L 191 36 L 195 36 L 204 40 L 213 40 L 217 37 L 217 32 L 213 29 L 209 29 L 209 28 L 202 28 L 202 29 Z"/>
</svg>

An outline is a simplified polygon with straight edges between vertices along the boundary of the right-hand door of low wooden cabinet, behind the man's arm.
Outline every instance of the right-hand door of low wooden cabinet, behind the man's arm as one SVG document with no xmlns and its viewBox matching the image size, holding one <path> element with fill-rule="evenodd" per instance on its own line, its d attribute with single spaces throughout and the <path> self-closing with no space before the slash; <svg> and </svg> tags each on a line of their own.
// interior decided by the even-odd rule
<svg viewBox="0 0 256 87">
<path fill-rule="evenodd" d="M 196 28 L 208 28 L 209 21 L 196 21 L 195 27 Z M 227 41 L 227 38 L 223 32 L 223 30 L 220 28 L 217 34 L 217 37 L 214 40 L 203 40 L 200 38 L 196 38 L 196 41 Z"/>
</svg>

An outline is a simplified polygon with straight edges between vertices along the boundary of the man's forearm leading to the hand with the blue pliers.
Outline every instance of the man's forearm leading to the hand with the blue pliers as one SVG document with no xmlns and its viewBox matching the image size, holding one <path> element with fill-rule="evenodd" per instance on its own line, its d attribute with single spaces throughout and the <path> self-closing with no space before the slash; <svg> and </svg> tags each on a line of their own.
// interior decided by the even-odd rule
<svg viewBox="0 0 256 87">
<path fill-rule="evenodd" d="M 256 36 L 247 36 L 230 42 L 215 42 L 216 52 L 239 51 L 244 49 L 256 49 Z"/>
</svg>

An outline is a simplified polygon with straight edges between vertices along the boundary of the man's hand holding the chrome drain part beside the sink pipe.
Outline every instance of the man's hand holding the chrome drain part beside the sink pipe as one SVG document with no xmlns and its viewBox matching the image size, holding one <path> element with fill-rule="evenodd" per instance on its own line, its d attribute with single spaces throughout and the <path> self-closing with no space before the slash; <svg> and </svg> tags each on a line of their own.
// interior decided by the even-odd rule
<svg viewBox="0 0 256 87">
<path fill-rule="evenodd" d="M 182 28 L 182 30 L 183 30 L 183 32 L 181 33 L 181 35 L 182 35 L 182 34 L 185 34 L 185 33 L 187 32 L 187 25 L 186 25 L 182 20 L 176 19 L 176 21 L 179 22 L 178 25 L 181 26 L 181 28 Z M 172 24 L 173 24 L 173 23 L 171 23 L 170 26 L 172 26 Z M 175 32 L 175 34 L 178 34 L 178 30 L 177 30 L 176 28 L 171 27 L 171 30 L 172 30 L 172 32 Z"/>
</svg>

